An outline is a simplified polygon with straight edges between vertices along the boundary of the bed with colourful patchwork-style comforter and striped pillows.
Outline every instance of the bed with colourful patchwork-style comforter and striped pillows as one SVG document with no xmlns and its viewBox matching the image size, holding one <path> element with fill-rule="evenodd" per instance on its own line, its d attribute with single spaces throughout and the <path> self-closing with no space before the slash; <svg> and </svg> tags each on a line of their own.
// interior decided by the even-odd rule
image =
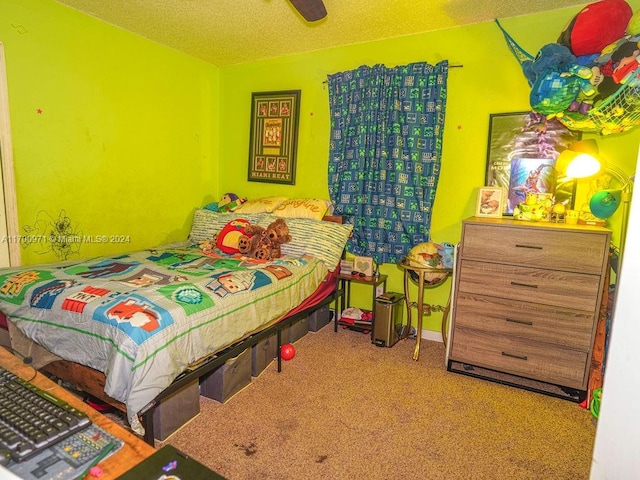
<svg viewBox="0 0 640 480">
<path fill-rule="evenodd" d="M 0 270 L 12 347 L 57 376 L 93 372 L 79 386 L 96 393 L 103 384 L 152 443 L 149 413 L 163 398 L 270 332 L 280 343 L 279 325 L 337 295 L 332 272 L 349 225 L 286 218 L 291 242 L 271 261 L 205 253 L 202 242 L 236 218 L 266 227 L 276 217 L 198 209 L 184 243 Z M 33 344 L 45 355 L 35 358 Z"/>
</svg>

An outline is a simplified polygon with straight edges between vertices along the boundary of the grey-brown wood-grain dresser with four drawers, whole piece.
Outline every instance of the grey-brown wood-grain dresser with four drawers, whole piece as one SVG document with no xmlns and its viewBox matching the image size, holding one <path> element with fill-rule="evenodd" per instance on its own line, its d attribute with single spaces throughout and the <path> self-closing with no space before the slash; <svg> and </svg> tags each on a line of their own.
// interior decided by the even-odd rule
<svg viewBox="0 0 640 480">
<path fill-rule="evenodd" d="M 582 401 L 610 235 L 583 225 L 465 220 L 448 370 L 553 395 L 548 384 Z"/>
</svg>

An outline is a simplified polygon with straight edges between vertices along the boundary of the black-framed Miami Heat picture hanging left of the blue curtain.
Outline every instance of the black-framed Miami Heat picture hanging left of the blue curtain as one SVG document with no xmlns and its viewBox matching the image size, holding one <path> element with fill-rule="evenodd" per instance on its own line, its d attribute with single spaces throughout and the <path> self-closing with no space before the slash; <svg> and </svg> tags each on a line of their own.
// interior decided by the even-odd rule
<svg viewBox="0 0 640 480">
<path fill-rule="evenodd" d="M 300 90 L 251 94 L 249 182 L 295 185 Z"/>
</svg>

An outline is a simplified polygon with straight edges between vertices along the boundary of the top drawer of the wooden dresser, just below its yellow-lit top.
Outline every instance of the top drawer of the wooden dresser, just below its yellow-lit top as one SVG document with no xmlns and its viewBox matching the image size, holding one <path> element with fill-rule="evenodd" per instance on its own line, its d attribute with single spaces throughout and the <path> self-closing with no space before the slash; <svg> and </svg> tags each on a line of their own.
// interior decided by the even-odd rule
<svg viewBox="0 0 640 480">
<path fill-rule="evenodd" d="M 606 234 L 541 226 L 465 224 L 461 255 L 475 260 L 600 275 L 608 248 Z"/>
</svg>

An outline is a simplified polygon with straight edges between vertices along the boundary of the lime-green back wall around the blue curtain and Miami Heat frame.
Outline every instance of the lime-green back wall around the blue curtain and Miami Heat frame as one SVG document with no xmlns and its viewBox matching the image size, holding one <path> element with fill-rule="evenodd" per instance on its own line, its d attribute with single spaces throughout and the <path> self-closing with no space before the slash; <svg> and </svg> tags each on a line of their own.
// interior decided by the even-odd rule
<svg viewBox="0 0 640 480">
<path fill-rule="evenodd" d="M 638 0 L 629 3 L 634 10 L 640 7 Z M 579 10 L 579 7 L 555 10 L 501 23 L 525 50 L 535 55 L 544 44 L 556 41 Z M 461 220 L 473 215 L 477 187 L 484 184 L 489 114 L 529 110 L 527 82 L 493 22 L 222 69 L 221 191 L 249 198 L 274 194 L 328 198 L 329 111 L 328 92 L 323 83 L 327 74 L 363 64 L 393 66 L 415 61 L 435 64 L 443 59 L 462 68 L 449 72 L 442 171 L 432 238 L 436 242 L 457 243 Z M 289 89 L 302 90 L 296 184 L 247 182 L 251 92 Z M 607 138 L 587 137 L 598 138 L 605 157 L 628 173 L 633 172 L 640 129 Z M 614 239 L 618 231 L 616 221 L 614 218 L 612 224 Z M 384 265 L 382 272 L 390 276 L 388 290 L 403 290 L 402 274 L 395 265 Z M 433 289 L 427 301 L 445 304 L 449 287 L 450 282 Z M 353 292 L 358 306 L 370 304 L 368 287 L 354 286 Z M 412 295 L 415 299 L 415 291 Z M 440 314 L 435 313 L 427 320 L 427 328 L 440 330 Z"/>
</svg>

